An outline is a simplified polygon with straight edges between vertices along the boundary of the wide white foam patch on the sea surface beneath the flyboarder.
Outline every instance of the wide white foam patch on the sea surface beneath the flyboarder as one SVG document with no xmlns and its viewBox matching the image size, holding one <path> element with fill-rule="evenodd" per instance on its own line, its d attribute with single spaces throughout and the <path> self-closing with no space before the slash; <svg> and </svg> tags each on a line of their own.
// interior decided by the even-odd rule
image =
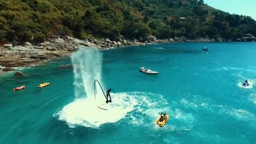
<svg viewBox="0 0 256 144">
<path fill-rule="evenodd" d="M 72 128 L 76 125 L 99 128 L 100 125 L 115 123 L 123 118 L 130 124 L 142 124 L 147 119 L 156 120 L 158 115 L 152 114 L 160 112 L 162 106 L 161 103 L 152 102 L 149 96 L 160 97 L 143 92 L 113 93 L 112 103 L 104 104 L 104 101 L 101 101 L 103 107 L 108 110 L 99 109 L 99 103 L 94 99 L 75 99 L 53 116 L 67 122 Z M 165 103 L 164 99 L 162 100 Z M 100 117 L 96 117 L 97 115 Z"/>
</svg>

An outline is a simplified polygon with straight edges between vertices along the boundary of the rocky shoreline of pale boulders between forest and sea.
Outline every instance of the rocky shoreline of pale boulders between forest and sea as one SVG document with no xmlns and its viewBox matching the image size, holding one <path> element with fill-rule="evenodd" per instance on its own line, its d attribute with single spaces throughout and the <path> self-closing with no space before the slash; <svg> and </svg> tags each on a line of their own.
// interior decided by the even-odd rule
<svg viewBox="0 0 256 144">
<path fill-rule="evenodd" d="M 254 40 L 254 37 L 249 37 Z M 246 40 L 243 38 L 243 41 Z M 122 36 L 113 35 L 110 38 L 93 40 L 79 40 L 73 37 L 60 37 L 51 35 L 45 42 L 37 45 L 32 45 L 29 42 L 19 45 L 14 40 L 13 43 L 5 44 L 0 48 L 0 66 L 1 67 L 31 67 L 38 64 L 43 64 L 47 59 L 56 57 L 69 56 L 72 52 L 77 51 L 79 48 L 94 47 L 99 50 L 110 49 L 122 46 L 131 45 L 145 45 L 148 43 L 176 43 L 176 42 L 221 42 L 221 38 L 199 38 L 197 40 L 188 40 L 185 37 L 175 37 L 169 39 L 159 40 L 155 36 L 150 35 L 146 38 L 139 38 L 139 40 L 124 40 Z M 3 71 L 12 71 L 13 69 L 7 68 Z"/>
</svg>

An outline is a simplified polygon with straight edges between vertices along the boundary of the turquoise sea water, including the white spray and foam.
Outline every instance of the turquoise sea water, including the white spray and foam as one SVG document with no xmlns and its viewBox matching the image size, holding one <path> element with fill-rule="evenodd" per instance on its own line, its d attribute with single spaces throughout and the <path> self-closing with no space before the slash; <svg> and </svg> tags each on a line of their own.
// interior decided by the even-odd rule
<svg viewBox="0 0 256 144">
<path fill-rule="evenodd" d="M 0 76 L 0 144 L 256 143 L 256 43 L 80 49 L 19 70 L 26 77 Z M 99 85 L 94 96 L 94 80 L 115 90 L 112 103 Z M 170 116 L 163 128 L 159 112 Z"/>
</svg>

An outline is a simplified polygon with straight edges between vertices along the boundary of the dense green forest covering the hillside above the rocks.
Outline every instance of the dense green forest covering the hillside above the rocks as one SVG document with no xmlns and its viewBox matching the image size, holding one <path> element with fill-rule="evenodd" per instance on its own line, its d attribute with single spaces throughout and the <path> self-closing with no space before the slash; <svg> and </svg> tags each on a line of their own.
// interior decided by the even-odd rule
<svg viewBox="0 0 256 144">
<path fill-rule="evenodd" d="M 43 41 L 60 31 L 81 39 L 110 34 L 235 39 L 256 35 L 256 21 L 216 10 L 203 0 L 0 0 L 0 41 L 14 36 Z"/>
</svg>

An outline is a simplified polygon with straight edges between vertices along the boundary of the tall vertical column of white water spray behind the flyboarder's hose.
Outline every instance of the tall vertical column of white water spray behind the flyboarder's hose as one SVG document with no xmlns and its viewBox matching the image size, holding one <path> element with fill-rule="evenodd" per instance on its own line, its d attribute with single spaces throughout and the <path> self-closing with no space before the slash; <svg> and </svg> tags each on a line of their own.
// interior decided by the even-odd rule
<svg viewBox="0 0 256 144">
<path fill-rule="evenodd" d="M 94 80 L 101 80 L 101 53 L 93 48 L 80 49 L 71 56 L 74 67 L 76 99 L 94 95 Z"/>
</svg>

